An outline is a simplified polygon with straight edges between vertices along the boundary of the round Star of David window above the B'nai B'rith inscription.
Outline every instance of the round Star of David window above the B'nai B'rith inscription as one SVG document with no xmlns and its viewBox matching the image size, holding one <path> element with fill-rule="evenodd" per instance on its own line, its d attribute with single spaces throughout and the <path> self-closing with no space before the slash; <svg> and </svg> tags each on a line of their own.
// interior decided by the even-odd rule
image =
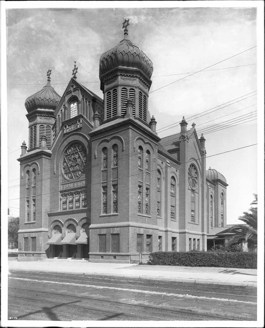
<svg viewBox="0 0 265 328">
<path fill-rule="evenodd" d="M 86 150 L 81 143 L 68 146 L 63 154 L 62 171 L 69 180 L 78 179 L 85 168 Z"/>
</svg>

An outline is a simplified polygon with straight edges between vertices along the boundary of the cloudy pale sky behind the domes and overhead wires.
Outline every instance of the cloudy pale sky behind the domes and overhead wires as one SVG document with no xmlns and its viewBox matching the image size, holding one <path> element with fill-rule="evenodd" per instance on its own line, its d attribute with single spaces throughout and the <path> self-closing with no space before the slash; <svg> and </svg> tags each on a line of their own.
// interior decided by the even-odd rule
<svg viewBox="0 0 265 328">
<path fill-rule="evenodd" d="M 178 133 L 182 116 L 188 129 L 196 123 L 198 136 L 203 132 L 206 139 L 206 167 L 221 172 L 229 184 L 227 224 L 240 222 L 238 217 L 249 209 L 253 193 L 257 193 L 257 146 L 253 144 L 257 143 L 257 111 L 263 104 L 257 105 L 255 92 L 256 8 L 177 7 L 7 10 L 11 215 L 19 215 L 16 159 L 23 140 L 28 145 L 26 98 L 46 85 L 48 69 L 52 70 L 52 86 L 62 95 L 72 76 L 74 61 L 78 82 L 103 98 L 99 59 L 123 39 L 122 23 L 129 18 L 128 38 L 154 65 L 149 112 L 156 118 L 158 136 Z M 193 72 L 198 73 L 191 75 Z M 210 113 L 210 109 L 215 111 Z M 235 150 L 249 145 L 253 146 Z"/>
</svg>

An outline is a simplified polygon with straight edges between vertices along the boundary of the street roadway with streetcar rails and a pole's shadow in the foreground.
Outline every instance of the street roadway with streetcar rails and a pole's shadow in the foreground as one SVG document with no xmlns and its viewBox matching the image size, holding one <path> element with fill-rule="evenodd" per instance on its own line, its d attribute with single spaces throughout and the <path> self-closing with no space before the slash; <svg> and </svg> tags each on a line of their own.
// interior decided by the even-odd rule
<svg viewBox="0 0 265 328">
<path fill-rule="evenodd" d="M 18 320 L 256 320 L 256 288 L 10 270 Z"/>
</svg>

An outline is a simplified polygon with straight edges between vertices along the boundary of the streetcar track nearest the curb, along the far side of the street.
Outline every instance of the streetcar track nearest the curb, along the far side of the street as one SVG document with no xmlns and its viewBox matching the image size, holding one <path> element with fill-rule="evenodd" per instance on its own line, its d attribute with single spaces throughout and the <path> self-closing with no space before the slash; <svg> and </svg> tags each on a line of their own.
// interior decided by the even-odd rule
<svg viewBox="0 0 265 328">
<path fill-rule="evenodd" d="M 17 276 L 17 277 L 23 277 L 23 275 L 16 275 L 12 274 L 12 276 Z M 54 280 L 66 280 L 66 281 L 71 281 L 73 282 L 73 279 L 63 279 L 63 278 L 57 278 L 57 277 L 42 277 L 42 276 L 27 276 L 27 277 L 32 277 L 32 278 L 44 278 L 44 279 L 54 279 Z M 82 276 L 79 276 L 82 277 Z M 202 292 L 202 291 L 193 291 L 193 290 L 185 290 L 185 289 L 173 289 L 173 288 L 163 288 L 163 287 L 151 287 L 151 286 L 139 286 L 139 285 L 131 285 L 131 284 L 123 284 L 123 283 L 111 283 L 111 282 L 99 282 L 99 281 L 89 281 L 89 280 L 74 280 L 75 282 L 86 282 L 86 283 L 98 283 L 98 284 L 103 284 L 103 285 L 114 285 L 114 286 L 126 286 L 126 287 L 138 287 L 138 288 L 151 288 L 151 289 L 161 289 L 161 290 L 166 290 L 166 291 L 181 291 L 181 292 L 189 292 L 189 293 L 201 293 L 201 294 L 213 294 L 213 295 L 220 295 L 220 296 L 232 296 L 232 297 L 244 297 L 244 298 L 255 298 L 256 296 L 249 296 L 249 295 L 237 295 L 237 294 L 225 294 L 225 293 L 214 293 L 214 292 Z"/>
</svg>

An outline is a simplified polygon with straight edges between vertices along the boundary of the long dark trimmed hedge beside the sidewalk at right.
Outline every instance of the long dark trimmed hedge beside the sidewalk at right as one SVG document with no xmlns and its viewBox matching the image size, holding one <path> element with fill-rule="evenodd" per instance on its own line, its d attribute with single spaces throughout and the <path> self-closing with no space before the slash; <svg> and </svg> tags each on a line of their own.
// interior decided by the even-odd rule
<svg viewBox="0 0 265 328">
<path fill-rule="evenodd" d="M 256 252 L 154 252 L 151 265 L 256 269 Z"/>
</svg>

